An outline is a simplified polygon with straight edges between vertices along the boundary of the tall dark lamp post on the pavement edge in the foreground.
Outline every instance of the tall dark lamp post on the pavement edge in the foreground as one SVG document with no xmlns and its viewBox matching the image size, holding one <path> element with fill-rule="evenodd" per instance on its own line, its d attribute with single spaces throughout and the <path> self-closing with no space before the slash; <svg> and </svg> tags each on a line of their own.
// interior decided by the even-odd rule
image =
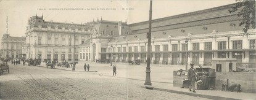
<svg viewBox="0 0 256 100">
<path fill-rule="evenodd" d="M 150 2 L 149 10 L 149 33 L 147 33 L 147 67 L 146 67 L 146 80 L 144 85 L 152 85 L 151 83 L 151 20 L 152 20 L 152 0 Z M 149 88 L 149 87 L 146 87 Z M 152 88 L 149 88 L 152 89 Z"/>
</svg>

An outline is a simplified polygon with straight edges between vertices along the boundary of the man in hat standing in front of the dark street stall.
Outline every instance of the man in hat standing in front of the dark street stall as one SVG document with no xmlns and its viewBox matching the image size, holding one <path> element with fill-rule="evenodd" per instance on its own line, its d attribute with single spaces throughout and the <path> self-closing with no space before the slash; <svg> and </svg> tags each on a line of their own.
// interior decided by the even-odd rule
<svg viewBox="0 0 256 100">
<path fill-rule="evenodd" d="M 188 70 L 188 80 L 191 82 L 191 85 L 189 86 L 189 91 L 196 93 L 195 91 L 195 81 L 196 81 L 196 69 L 194 69 L 194 64 L 190 64 L 191 68 Z"/>
</svg>

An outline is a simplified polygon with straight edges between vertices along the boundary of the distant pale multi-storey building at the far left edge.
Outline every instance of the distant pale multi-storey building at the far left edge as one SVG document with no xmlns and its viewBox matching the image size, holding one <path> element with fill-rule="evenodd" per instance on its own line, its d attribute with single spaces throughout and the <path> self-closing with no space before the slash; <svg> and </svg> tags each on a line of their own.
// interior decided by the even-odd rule
<svg viewBox="0 0 256 100">
<path fill-rule="evenodd" d="M 25 37 L 14 37 L 10 34 L 4 34 L 2 36 L 2 58 L 25 58 L 25 52 L 23 46 L 25 45 Z"/>
</svg>

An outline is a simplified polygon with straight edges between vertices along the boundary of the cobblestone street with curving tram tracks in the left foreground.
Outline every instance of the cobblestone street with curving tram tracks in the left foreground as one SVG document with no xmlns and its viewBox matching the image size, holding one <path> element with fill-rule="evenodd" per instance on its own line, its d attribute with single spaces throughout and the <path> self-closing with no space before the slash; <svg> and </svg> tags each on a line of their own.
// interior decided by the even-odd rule
<svg viewBox="0 0 256 100">
<path fill-rule="evenodd" d="M 144 81 L 102 75 L 105 64 L 92 68 L 99 72 L 9 66 L 10 74 L 0 76 L 0 99 L 206 99 L 147 90 Z"/>
</svg>

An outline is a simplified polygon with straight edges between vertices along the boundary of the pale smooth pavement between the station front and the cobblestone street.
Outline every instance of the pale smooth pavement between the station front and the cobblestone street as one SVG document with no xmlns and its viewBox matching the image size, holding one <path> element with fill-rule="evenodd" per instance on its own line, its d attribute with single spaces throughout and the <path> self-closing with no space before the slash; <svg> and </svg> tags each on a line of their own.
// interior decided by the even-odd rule
<svg viewBox="0 0 256 100">
<path fill-rule="evenodd" d="M 83 64 L 90 64 L 91 71 L 85 71 Z M 44 65 L 44 64 L 42 64 Z M 146 77 L 146 64 L 141 65 L 129 65 L 127 63 L 115 63 L 117 65 L 117 75 L 112 75 L 112 67 L 109 64 L 99 64 L 94 62 L 79 61 L 76 64 L 76 69 L 73 72 L 94 72 L 99 75 L 108 77 L 119 77 L 130 80 L 145 81 Z M 98 66 L 105 67 L 105 69 L 99 69 Z M 45 66 L 41 66 L 45 67 Z M 57 67 L 56 69 L 72 71 L 72 67 Z M 189 96 L 196 96 L 209 99 L 256 99 L 254 93 L 236 93 L 221 90 L 196 90 L 196 93 L 192 93 L 188 88 L 173 87 L 173 71 L 184 69 L 184 66 L 151 64 L 151 87 L 153 90 L 167 91 L 170 93 L 186 94 Z M 146 86 L 141 85 L 142 88 Z"/>
</svg>

